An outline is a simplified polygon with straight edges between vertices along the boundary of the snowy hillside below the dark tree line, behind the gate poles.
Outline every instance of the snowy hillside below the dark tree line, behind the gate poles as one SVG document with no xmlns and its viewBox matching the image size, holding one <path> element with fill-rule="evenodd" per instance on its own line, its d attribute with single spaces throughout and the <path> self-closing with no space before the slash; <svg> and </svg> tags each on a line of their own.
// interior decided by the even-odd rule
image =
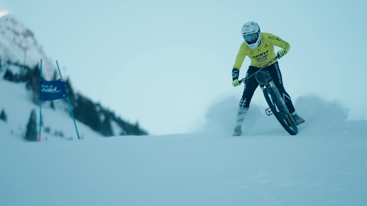
<svg viewBox="0 0 367 206">
<path fill-rule="evenodd" d="M 0 72 L 0 77 L 3 75 Z M 25 83 L 15 83 L 0 78 L 0 111 L 4 109 L 8 117 L 7 122 L 0 120 L 0 142 L 22 141 L 32 109 L 36 110 L 37 125 L 39 125 L 40 107 L 34 104 L 31 99 L 30 91 L 26 90 Z M 49 101 L 43 103 L 42 141 L 78 139 L 73 119 L 62 108 L 65 104 L 62 104 L 61 101 L 55 100 L 55 104 L 61 106 L 56 110 L 50 107 Z M 76 121 L 76 124 L 81 138 L 87 136 L 88 138 L 103 137 L 79 121 Z M 50 128 L 50 133 L 45 132 L 47 127 Z M 63 133 L 63 137 L 59 136 L 60 132 Z"/>
</svg>

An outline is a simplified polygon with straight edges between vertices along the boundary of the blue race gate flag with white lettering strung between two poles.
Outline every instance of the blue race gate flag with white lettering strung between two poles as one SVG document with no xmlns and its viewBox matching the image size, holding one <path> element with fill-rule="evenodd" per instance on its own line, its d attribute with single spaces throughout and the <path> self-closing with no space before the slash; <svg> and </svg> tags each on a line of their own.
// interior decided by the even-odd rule
<svg viewBox="0 0 367 206">
<path fill-rule="evenodd" d="M 40 100 L 55 100 L 68 97 L 65 83 L 61 79 L 57 81 L 41 80 Z"/>
</svg>

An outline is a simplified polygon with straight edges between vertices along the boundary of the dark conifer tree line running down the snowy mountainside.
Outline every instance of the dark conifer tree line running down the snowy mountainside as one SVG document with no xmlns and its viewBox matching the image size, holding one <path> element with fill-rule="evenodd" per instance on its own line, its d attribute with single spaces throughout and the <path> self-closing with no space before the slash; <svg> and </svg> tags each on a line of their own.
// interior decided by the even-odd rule
<svg viewBox="0 0 367 206">
<path fill-rule="evenodd" d="M 0 60 L 1 65 L 1 60 Z M 6 62 L 7 66 L 19 67 L 19 73 L 14 74 L 11 70 L 6 69 L 3 76 L 4 79 L 13 82 L 25 82 L 26 89 L 32 92 L 33 103 L 39 105 L 40 98 L 40 67 L 39 65 L 30 68 L 27 65 L 21 65 L 18 62 Z M 4 66 L 3 66 L 4 67 Z M 0 66 L 1 70 L 1 66 Z M 57 80 L 57 73 L 55 71 L 53 80 Z M 94 103 L 92 100 L 83 96 L 81 93 L 76 93 L 72 87 L 70 79 L 68 78 L 65 82 L 66 90 L 70 99 L 70 104 L 74 116 L 77 120 L 90 126 L 93 130 L 101 133 L 105 137 L 113 136 L 113 130 L 111 122 L 116 122 L 120 126 L 122 132 L 119 135 L 148 135 L 148 132 L 140 128 L 138 122 L 131 124 L 130 122 L 124 121 L 118 117 L 113 111 L 102 107 L 100 103 Z M 63 102 L 67 104 L 67 100 L 64 98 Z M 54 103 L 51 102 L 51 107 L 54 108 Z M 35 114 L 32 112 L 30 120 L 34 119 Z M 71 115 L 71 114 L 70 114 Z M 34 119 L 36 121 L 36 119 Z M 29 124 L 33 126 L 34 124 Z M 28 128 L 28 126 L 27 126 Z"/>
</svg>

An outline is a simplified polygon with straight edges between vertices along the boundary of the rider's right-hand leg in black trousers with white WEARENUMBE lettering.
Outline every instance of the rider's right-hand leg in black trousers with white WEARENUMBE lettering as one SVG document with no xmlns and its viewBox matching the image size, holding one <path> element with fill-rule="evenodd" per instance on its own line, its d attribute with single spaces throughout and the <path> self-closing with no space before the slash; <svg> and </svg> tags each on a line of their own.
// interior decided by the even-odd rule
<svg viewBox="0 0 367 206">
<path fill-rule="evenodd" d="M 297 114 L 297 112 L 294 109 L 291 96 L 288 95 L 288 93 L 284 89 L 283 79 L 281 77 L 278 62 L 275 62 L 274 64 L 268 66 L 267 70 L 269 71 L 269 74 L 272 77 L 275 86 L 279 89 L 279 93 L 283 97 L 283 100 L 289 109 L 289 113 L 291 113 L 291 115 Z"/>
</svg>

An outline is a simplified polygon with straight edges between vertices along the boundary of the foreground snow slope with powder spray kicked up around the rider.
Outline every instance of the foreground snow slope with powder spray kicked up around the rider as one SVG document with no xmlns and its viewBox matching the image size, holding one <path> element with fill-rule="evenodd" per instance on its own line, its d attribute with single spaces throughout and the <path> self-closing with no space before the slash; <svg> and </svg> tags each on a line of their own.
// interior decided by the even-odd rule
<svg viewBox="0 0 367 206">
<path fill-rule="evenodd" d="M 257 106 L 230 136 L 231 98 L 196 134 L 28 143 L 3 133 L 0 205 L 366 205 L 367 121 L 302 98 L 296 136 Z"/>
</svg>

